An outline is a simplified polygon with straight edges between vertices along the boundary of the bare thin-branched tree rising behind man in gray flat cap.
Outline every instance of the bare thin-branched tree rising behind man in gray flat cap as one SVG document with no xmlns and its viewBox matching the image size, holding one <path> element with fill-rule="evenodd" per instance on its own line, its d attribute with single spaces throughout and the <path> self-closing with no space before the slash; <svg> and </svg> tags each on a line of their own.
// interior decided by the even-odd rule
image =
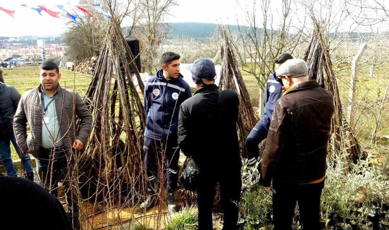
<svg viewBox="0 0 389 230">
<path fill-rule="evenodd" d="M 262 101 L 262 89 L 267 77 L 274 71 L 272 60 L 285 52 L 294 53 L 295 49 L 299 49 L 299 44 L 308 42 L 303 30 L 297 29 L 298 27 L 292 24 L 292 18 L 293 21 L 298 21 L 296 8 L 297 5 L 293 4 L 293 1 L 282 0 L 282 12 L 280 12 L 282 16 L 280 19 L 274 19 L 270 0 L 261 1 L 259 4 L 253 0 L 252 5 L 241 6 L 246 17 L 244 20 L 237 20 L 237 23 L 247 26 L 240 26 L 242 46 L 235 45 L 236 55 L 241 62 L 242 70 L 255 77 L 260 85 L 260 101 Z M 304 25 L 304 22 L 298 21 L 298 24 Z M 294 28 L 293 32 L 292 28 Z M 304 49 L 300 49 L 299 53 L 302 52 Z M 262 103 L 260 103 L 260 110 L 262 110 L 261 105 Z"/>
</svg>

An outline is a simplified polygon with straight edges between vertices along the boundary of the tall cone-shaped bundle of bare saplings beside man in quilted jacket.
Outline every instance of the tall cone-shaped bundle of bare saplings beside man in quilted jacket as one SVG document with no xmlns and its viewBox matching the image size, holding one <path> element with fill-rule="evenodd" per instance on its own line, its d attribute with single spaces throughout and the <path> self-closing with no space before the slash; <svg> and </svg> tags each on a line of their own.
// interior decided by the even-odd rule
<svg viewBox="0 0 389 230">
<path fill-rule="evenodd" d="M 132 71 L 143 91 L 120 25 L 111 18 L 84 98 L 93 124 L 88 146 L 78 158 L 81 192 L 94 197 L 94 205 L 103 200 L 108 208 L 133 206 L 144 194 L 142 148 L 146 116 Z"/>
</svg>

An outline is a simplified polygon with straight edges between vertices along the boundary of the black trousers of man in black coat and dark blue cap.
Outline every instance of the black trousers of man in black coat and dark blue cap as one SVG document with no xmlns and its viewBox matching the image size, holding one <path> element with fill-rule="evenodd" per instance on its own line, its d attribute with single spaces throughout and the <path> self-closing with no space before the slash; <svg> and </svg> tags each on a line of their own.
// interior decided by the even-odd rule
<svg viewBox="0 0 389 230">
<path fill-rule="evenodd" d="M 235 168 L 235 169 L 234 169 Z M 215 186 L 220 182 L 220 196 L 223 210 L 223 230 L 236 229 L 241 198 L 241 168 L 225 167 L 220 176 L 200 169 L 200 184 L 197 189 L 199 210 L 199 230 L 212 230 L 212 209 L 215 198 Z M 219 177 L 219 179 L 217 178 Z"/>
</svg>

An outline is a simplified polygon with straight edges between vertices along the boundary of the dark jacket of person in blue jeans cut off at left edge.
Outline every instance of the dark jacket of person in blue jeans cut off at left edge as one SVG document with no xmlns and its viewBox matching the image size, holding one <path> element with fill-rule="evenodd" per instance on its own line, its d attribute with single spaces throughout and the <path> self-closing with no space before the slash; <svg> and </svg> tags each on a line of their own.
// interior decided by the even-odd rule
<svg viewBox="0 0 389 230">
<path fill-rule="evenodd" d="M 0 137 L 9 138 L 13 132 L 13 116 L 20 100 L 19 92 L 0 82 Z"/>
</svg>

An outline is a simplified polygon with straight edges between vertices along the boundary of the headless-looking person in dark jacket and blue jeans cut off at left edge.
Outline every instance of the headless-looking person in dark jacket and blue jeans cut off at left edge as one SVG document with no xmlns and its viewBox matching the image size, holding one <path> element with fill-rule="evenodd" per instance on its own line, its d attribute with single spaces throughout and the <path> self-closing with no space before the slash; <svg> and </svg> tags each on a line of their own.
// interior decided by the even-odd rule
<svg viewBox="0 0 389 230">
<path fill-rule="evenodd" d="M 8 176 L 16 176 L 16 170 L 11 158 L 10 143 L 12 142 L 21 163 L 26 170 L 27 178 L 34 180 L 30 155 L 19 152 L 15 134 L 13 133 L 13 116 L 20 100 L 19 92 L 12 86 L 0 82 L 0 155 Z"/>
</svg>

